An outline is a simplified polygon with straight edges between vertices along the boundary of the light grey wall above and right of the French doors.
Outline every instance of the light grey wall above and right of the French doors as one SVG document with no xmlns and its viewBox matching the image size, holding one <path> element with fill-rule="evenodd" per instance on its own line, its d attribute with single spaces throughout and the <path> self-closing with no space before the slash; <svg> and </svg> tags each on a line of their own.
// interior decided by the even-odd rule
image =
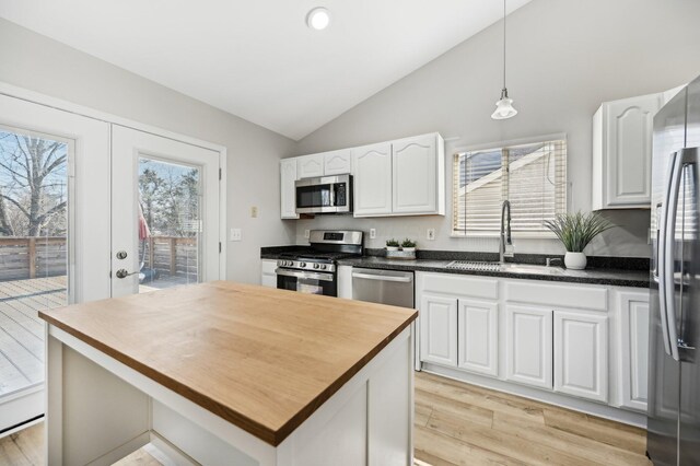
<svg viewBox="0 0 700 466">
<path fill-rule="evenodd" d="M 294 225 L 279 218 L 290 139 L 2 19 L 0 57 L 5 83 L 225 145 L 228 224 L 243 229 L 241 243 L 228 243 L 229 279 L 258 282 L 260 246 L 293 242 Z"/>
</svg>

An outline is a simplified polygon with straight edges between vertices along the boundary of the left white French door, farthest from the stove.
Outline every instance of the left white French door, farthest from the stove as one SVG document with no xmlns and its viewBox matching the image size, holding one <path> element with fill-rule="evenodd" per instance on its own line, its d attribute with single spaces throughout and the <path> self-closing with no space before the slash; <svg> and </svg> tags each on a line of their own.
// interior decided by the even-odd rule
<svg viewBox="0 0 700 466">
<path fill-rule="evenodd" d="M 38 312 L 109 296 L 109 124 L 0 95 L 0 436 L 44 413 Z"/>
</svg>

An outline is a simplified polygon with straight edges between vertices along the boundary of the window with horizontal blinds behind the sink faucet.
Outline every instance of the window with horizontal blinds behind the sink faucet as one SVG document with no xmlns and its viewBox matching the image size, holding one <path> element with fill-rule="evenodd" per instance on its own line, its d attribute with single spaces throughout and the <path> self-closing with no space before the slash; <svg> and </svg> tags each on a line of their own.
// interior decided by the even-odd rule
<svg viewBox="0 0 700 466">
<path fill-rule="evenodd" d="M 489 235 L 511 201 L 511 229 L 549 233 L 545 220 L 567 211 L 567 141 L 468 151 L 454 156 L 453 235 Z"/>
</svg>

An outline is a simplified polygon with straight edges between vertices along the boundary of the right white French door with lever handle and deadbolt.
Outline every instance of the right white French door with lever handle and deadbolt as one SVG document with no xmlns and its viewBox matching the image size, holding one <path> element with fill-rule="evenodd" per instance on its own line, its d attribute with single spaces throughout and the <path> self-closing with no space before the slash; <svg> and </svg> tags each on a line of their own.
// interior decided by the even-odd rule
<svg viewBox="0 0 700 466">
<path fill-rule="evenodd" d="M 113 126 L 113 298 L 219 279 L 219 152 Z"/>
</svg>

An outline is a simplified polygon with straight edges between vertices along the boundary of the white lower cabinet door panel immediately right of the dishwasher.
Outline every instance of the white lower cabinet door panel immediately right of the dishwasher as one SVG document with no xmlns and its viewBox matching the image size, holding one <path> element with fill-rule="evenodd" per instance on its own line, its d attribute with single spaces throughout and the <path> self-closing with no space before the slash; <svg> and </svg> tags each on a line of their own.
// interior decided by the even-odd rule
<svg viewBox="0 0 700 466">
<path fill-rule="evenodd" d="M 421 361 L 457 365 L 457 300 L 423 295 L 420 303 Z"/>
</svg>

